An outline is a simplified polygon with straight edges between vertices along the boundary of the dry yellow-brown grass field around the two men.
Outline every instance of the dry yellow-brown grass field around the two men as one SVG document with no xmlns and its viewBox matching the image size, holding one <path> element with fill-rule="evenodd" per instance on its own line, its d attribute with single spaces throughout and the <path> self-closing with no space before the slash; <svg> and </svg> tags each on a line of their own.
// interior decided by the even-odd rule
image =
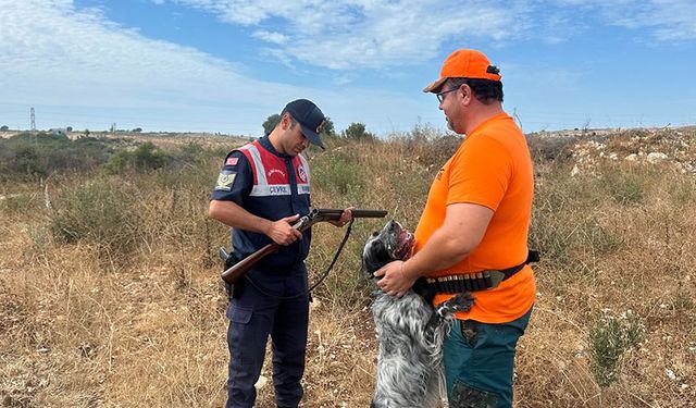
<svg viewBox="0 0 696 408">
<path fill-rule="evenodd" d="M 535 312 L 519 346 L 515 407 L 696 404 L 696 181 L 686 166 L 696 161 L 696 132 L 656 132 L 610 135 L 601 149 L 582 138 L 550 147 L 535 140 L 544 158 L 556 160 L 539 156 L 535 163 L 531 244 L 543 261 L 535 267 Z M 413 228 L 455 146 L 417 136 L 313 151 L 313 202 L 385 208 Z M 562 154 L 554 153 L 557 146 Z M 669 158 L 623 159 L 657 149 Z M 0 186 L 20 194 L 0 201 L 0 406 L 223 405 L 225 299 L 214 249 L 227 232 L 206 220 L 217 165 L 109 178 L 104 188 L 134 198 L 121 209 L 139 225 L 125 237 L 134 240 L 126 254 L 105 252 L 103 238 L 57 239 L 42 189 Z M 72 208 L 70 197 L 87 178 L 52 180 L 55 208 Z M 341 260 L 314 294 L 306 408 L 369 405 L 376 343 L 359 254 L 381 224 L 356 223 Z M 111 236 L 123 232 L 113 227 Z M 331 226 L 315 230 L 313 276 L 340 238 Z M 639 317 L 643 339 L 620 360 L 618 381 L 602 388 L 592 371 L 589 332 L 600 316 L 626 310 Z M 263 375 L 271 378 L 268 367 Z M 261 387 L 258 406 L 273 407 L 272 394 L 272 385 Z"/>
</svg>

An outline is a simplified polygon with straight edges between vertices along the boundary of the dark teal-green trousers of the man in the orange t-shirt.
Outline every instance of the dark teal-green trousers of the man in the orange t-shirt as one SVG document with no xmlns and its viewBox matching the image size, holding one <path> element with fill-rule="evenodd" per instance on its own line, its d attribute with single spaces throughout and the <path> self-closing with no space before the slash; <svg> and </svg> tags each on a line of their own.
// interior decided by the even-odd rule
<svg viewBox="0 0 696 408">
<path fill-rule="evenodd" d="M 512 407 L 514 351 L 531 314 L 500 324 L 457 321 L 443 345 L 450 408 Z"/>
</svg>

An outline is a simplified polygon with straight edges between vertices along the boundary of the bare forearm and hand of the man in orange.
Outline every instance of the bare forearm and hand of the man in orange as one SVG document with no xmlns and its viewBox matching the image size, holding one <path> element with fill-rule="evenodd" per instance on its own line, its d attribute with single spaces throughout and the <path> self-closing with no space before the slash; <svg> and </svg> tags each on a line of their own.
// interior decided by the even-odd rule
<svg viewBox="0 0 696 408">
<path fill-rule="evenodd" d="M 388 295 L 400 297 L 418 277 L 458 263 L 478 246 L 493 214 L 492 209 L 475 203 L 447 206 L 443 226 L 411 259 L 387 263 L 376 271 L 375 276 L 383 276 L 377 285 Z"/>
</svg>

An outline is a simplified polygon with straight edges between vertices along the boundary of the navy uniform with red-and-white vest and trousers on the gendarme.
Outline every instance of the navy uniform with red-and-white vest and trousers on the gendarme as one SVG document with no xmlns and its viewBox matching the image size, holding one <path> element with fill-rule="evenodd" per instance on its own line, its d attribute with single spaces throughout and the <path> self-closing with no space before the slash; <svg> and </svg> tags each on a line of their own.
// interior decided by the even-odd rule
<svg viewBox="0 0 696 408">
<path fill-rule="evenodd" d="M 307 214 L 310 209 L 307 160 L 277 152 L 269 137 L 232 151 L 213 189 L 213 200 L 234 201 L 266 220 Z M 227 408 L 250 408 L 256 400 L 269 335 L 273 339 L 273 383 L 278 407 L 297 407 L 302 397 L 309 295 L 303 260 L 311 232 L 257 263 L 227 309 L 229 378 Z M 264 234 L 234 228 L 238 259 L 271 244 Z M 299 296 L 298 296 L 299 295 Z"/>
</svg>

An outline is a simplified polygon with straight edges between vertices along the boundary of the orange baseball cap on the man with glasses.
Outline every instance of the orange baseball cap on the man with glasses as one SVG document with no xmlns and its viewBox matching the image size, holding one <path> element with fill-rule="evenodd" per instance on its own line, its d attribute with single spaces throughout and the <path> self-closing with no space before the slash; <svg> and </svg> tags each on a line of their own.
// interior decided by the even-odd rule
<svg viewBox="0 0 696 408">
<path fill-rule="evenodd" d="M 434 92 L 447 78 L 481 78 L 500 81 L 498 69 L 490 65 L 490 61 L 481 51 L 457 50 L 447 57 L 439 72 L 439 79 L 426 86 L 424 92 Z"/>
</svg>

